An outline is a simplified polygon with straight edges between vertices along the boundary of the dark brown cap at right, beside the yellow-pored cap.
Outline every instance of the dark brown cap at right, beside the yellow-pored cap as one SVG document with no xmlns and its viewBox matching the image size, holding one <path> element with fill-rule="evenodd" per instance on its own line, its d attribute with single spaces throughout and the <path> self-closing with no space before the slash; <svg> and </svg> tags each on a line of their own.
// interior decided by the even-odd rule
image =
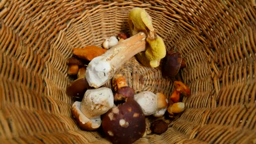
<svg viewBox="0 0 256 144">
<path fill-rule="evenodd" d="M 163 59 L 162 75 L 174 77 L 181 67 L 182 55 L 179 52 L 168 53 Z"/>
</svg>

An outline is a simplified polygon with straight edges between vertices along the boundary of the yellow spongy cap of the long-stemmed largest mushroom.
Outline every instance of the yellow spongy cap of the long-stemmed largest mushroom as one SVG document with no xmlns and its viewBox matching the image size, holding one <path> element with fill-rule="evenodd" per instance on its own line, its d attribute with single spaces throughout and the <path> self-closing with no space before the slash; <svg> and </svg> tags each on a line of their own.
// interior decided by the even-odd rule
<svg viewBox="0 0 256 144">
<path fill-rule="evenodd" d="M 152 25 L 152 18 L 142 8 L 133 8 L 128 16 L 130 35 L 138 32 L 147 34 L 147 50 L 138 53 L 136 56 L 146 67 L 158 67 L 160 60 L 166 55 L 163 39 L 155 33 Z"/>
</svg>

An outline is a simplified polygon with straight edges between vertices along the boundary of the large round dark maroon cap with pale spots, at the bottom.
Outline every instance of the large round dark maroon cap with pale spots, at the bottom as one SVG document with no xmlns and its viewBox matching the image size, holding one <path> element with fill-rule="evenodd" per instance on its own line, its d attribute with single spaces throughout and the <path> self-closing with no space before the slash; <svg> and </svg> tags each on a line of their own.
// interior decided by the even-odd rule
<svg viewBox="0 0 256 144">
<path fill-rule="evenodd" d="M 145 116 L 139 104 L 128 98 L 103 116 L 102 128 L 113 144 L 131 144 L 146 130 Z"/>
</svg>

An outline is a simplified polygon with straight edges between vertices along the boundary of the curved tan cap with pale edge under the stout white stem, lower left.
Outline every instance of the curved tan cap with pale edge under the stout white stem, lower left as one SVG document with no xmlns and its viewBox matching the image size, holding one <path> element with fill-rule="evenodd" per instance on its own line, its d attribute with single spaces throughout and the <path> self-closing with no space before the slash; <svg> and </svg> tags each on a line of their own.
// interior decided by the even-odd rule
<svg viewBox="0 0 256 144">
<path fill-rule="evenodd" d="M 72 105 L 72 115 L 77 122 L 77 125 L 86 131 L 93 131 L 100 127 L 101 125 L 101 117 L 96 117 L 94 119 L 88 119 L 81 111 L 80 111 L 81 102 L 75 101 Z"/>
</svg>

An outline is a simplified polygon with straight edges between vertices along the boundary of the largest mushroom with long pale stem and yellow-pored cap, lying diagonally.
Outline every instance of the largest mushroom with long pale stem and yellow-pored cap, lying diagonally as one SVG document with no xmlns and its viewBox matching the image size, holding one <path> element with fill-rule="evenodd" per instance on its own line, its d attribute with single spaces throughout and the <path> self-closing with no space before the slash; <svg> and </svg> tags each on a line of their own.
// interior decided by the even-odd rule
<svg viewBox="0 0 256 144">
<path fill-rule="evenodd" d="M 99 88 L 107 83 L 125 61 L 141 51 L 147 51 L 145 56 L 150 64 L 154 63 L 152 67 L 159 66 L 158 61 L 165 57 L 165 45 L 152 29 L 152 20 L 147 12 L 142 8 L 133 8 L 128 17 L 128 23 L 133 27 L 133 35 L 88 64 L 85 77 L 91 87 Z M 149 46 L 146 46 L 147 43 Z"/>
</svg>

